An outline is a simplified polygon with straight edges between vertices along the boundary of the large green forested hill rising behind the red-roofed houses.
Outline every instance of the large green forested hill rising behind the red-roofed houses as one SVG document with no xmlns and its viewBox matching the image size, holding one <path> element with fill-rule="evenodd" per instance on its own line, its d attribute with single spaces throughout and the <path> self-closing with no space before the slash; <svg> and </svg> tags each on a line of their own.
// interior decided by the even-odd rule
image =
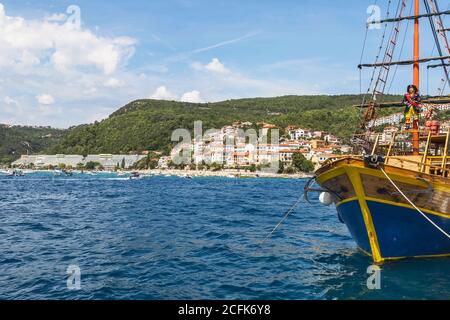
<svg viewBox="0 0 450 320">
<path fill-rule="evenodd" d="M 48 153 L 127 153 L 159 150 L 167 153 L 173 130 L 192 129 L 203 121 L 204 130 L 235 121 L 269 122 L 280 128 L 299 125 L 349 137 L 358 124 L 359 95 L 285 96 L 191 104 L 174 101 L 137 100 L 108 119 L 71 128 Z M 400 101 L 391 96 L 387 100 Z"/>
</svg>

